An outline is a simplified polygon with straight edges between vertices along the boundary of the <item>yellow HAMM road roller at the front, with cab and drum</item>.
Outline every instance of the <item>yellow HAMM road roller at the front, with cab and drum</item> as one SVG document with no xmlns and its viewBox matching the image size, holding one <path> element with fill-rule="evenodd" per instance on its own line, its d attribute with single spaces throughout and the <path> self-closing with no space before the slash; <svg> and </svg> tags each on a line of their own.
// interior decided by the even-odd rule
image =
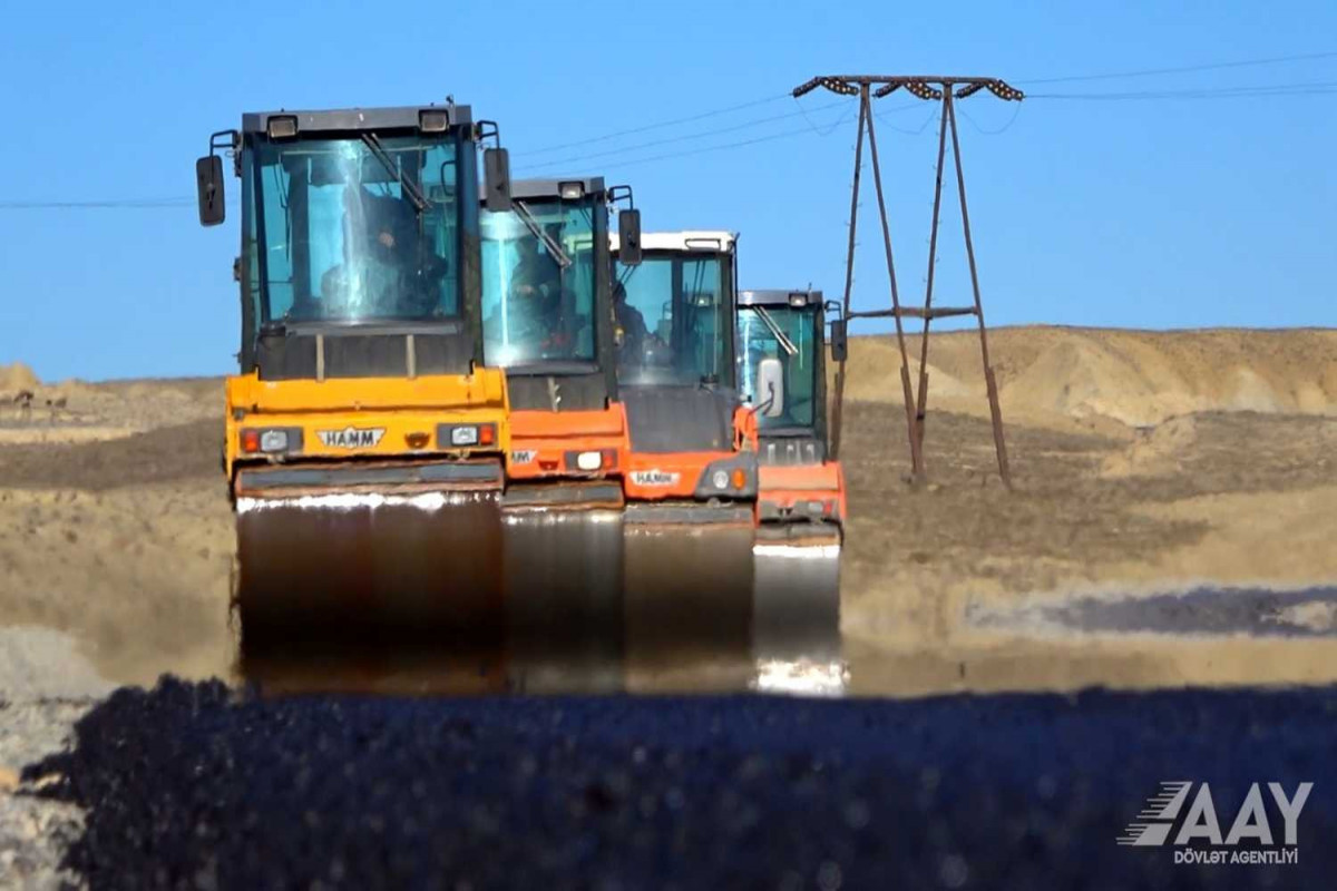
<svg viewBox="0 0 1337 891">
<path fill-rule="evenodd" d="M 197 163 L 206 226 L 223 154 L 241 179 L 225 466 L 243 640 L 261 614 L 413 625 L 492 584 L 509 427 L 483 351 L 487 135 L 455 104 L 246 114 Z M 484 160 L 503 208 L 504 150 Z"/>
</svg>

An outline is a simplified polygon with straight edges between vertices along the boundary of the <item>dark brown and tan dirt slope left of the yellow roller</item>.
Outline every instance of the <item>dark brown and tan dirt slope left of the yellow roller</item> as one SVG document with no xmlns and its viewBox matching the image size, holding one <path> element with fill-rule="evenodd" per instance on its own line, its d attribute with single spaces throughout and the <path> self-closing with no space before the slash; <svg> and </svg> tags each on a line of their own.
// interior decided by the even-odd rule
<svg viewBox="0 0 1337 891">
<path fill-rule="evenodd" d="M 0 614 L 68 631 L 107 677 L 231 659 L 218 422 L 0 448 Z"/>
</svg>

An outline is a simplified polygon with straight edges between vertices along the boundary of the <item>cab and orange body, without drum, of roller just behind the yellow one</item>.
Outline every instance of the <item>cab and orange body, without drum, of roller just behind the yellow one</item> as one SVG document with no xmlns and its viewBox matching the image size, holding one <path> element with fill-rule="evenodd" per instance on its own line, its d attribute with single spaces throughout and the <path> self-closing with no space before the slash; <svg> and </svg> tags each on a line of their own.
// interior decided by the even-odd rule
<svg viewBox="0 0 1337 891">
<path fill-rule="evenodd" d="M 627 464 L 611 191 L 602 178 L 517 180 L 509 210 L 483 211 L 484 357 L 507 371 L 512 480 L 616 478 Z"/>
</svg>

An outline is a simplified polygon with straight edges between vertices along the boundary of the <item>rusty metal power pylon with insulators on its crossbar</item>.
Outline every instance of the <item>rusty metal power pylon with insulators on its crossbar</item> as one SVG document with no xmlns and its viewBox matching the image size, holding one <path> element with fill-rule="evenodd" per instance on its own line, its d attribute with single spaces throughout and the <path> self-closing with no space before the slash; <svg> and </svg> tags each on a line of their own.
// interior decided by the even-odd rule
<svg viewBox="0 0 1337 891">
<path fill-rule="evenodd" d="M 993 448 L 997 453 L 999 476 L 1003 484 L 1012 488 L 1012 474 L 1008 469 L 1007 443 L 1003 439 L 1003 411 L 999 407 L 997 382 L 989 365 L 989 342 L 984 326 L 984 305 L 980 301 L 980 278 L 975 266 L 975 244 L 971 239 L 971 218 L 965 206 L 965 174 L 961 170 L 961 143 L 956 127 L 956 100 L 967 99 L 987 90 L 1004 102 L 1020 102 L 1024 94 L 995 77 L 949 77 L 940 75 L 826 75 L 794 88 L 798 99 L 822 87 L 842 96 L 858 96 L 858 142 L 854 147 L 854 188 L 849 206 L 849 252 L 845 260 L 845 301 L 842 323 L 858 318 L 888 318 L 896 322 L 896 342 L 901 353 L 901 389 L 905 398 L 905 425 L 910 445 L 910 466 L 916 484 L 927 480 L 924 464 L 924 421 L 928 409 L 928 335 L 933 319 L 953 315 L 973 315 L 980 331 L 980 355 L 984 363 L 984 386 L 988 391 L 989 417 L 993 422 Z M 929 232 L 928 286 L 924 291 L 924 306 L 902 306 L 896 281 L 896 263 L 892 255 L 892 232 L 886 220 L 886 202 L 882 194 L 882 171 L 877 159 L 877 134 L 873 126 L 873 100 L 882 99 L 904 88 L 916 99 L 943 103 L 941 122 L 937 135 L 937 182 L 933 190 L 933 224 Z M 961 199 L 961 230 L 965 235 L 965 255 L 971 267 L 971 287 L 975 293 L 973 306 L 933 306 L 933 267 L 937 260 L 937 232 L 943 206 L 943 171 L 947 162 L 947 134 L 952 132 L 952 159 L 956 168 L 957 194 Z M 868 132 L 868 147 L 873 162 L 873 184 L 877 190 L 877 212 L 882 222 L 882 244 L 886 251 L 886 275 L 890 281 L 892 306 L 888 310 L 854 313 L 850 310 L 850 293 L 854 282 L 854 234 L 858 224 L 860 171 L 864 166 L 864 134 Z M 910 385 L 909 351 L 905 345 L 902 319 L 923 319 L 920 339 L 920 373 L 917 386 Z M 836 402 L 832 410 L 832 454 L 840 454 L 841 414 L 845 397 L 845 361 L 836 370 Z"/>
</svg>

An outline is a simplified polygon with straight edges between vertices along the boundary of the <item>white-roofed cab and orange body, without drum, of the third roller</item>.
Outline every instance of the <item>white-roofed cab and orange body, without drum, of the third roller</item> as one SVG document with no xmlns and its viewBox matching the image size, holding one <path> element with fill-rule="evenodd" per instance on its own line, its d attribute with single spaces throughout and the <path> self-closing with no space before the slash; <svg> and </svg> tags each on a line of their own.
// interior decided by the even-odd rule
<svg viewBox="0 0 1337 891">
<path fill-rule="evenodd" d="M 646 232 L 614 293 L 631 427 L 628 501 L 751 505 L 757 425 L 739 403 L 733 232 Z M 619 244 L 615 239 L 615 252 Z"/>
</svg>

